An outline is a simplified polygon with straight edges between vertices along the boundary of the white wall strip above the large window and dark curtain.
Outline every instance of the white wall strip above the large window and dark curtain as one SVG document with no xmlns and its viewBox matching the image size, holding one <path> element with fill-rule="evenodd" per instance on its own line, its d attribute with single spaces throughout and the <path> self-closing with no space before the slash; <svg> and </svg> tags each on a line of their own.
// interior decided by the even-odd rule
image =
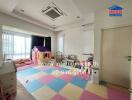
<svg viewBox="0 0 132 100">
<path fill-rule="evenodd" d="M 21 30 L 36 33 L 38 35 L 51 36 L 51 39 L 52 39 L 51 49 L 52 49 L 52 52 L 56 52 L 56 34 L 54 34 L 53 31 L 28 23 L 20 19 L 17 19 L 15 17 L 0 13 L 0 26 L 2 25 L 15 27 Z M 1 35 L 0 35 L 0 40 L 1 40 Z M 0 48 L 2 48 L 1 44 L 0 44 Z"/>
</svg>

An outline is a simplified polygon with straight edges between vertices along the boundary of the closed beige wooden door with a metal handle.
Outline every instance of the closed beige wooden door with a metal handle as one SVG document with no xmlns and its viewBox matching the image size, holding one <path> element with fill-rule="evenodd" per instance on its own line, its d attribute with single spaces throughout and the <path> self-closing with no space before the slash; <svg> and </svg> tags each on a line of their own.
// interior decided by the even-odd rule
<svg viewBox="0 0 132 100">
<path fill-rule="evenodd" d="M 103 30 L 102 79 L 130 88 L 132 26 Z"/>
</svg>

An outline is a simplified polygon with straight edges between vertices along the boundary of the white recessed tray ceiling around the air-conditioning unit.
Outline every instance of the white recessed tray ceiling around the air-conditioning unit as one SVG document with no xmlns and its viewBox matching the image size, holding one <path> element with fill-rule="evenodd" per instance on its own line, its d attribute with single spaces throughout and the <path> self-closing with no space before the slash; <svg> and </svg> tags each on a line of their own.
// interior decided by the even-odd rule
<svg viewBox="0 0 132 100">
<path fill-rule="evenodd" d="M 48 29 L 62 30 L 74 24 L 94 22 L 94 12 L 107 8 L 111 2 L 122 3 L 127 0 L 0 0 L 0 11 Z M 41 14 L 41 9 L 54 2 L 66 16 L 55 21 Z M 24 10 L 22 12 L 21 10 Z M 77 18 L 79 16 L 80 18 Z"/>
</svg>

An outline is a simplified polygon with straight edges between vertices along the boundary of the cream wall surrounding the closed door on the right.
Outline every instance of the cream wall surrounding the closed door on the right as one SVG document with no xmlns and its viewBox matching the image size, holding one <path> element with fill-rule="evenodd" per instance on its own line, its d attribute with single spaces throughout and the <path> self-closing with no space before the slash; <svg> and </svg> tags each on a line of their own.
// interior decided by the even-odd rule
<svg viewBox="0 0 132 100">
<path fill-rule="evenodd" d="M 99 68 L 101 68 L 101 29 L 132 25 L 132 1 L 130 0 L 121 6 L 124 7 L 124 13 L 122 17 L 110 17 L 108 15 L 107 8 L 105 10 L 96 12 L 95 14 L 94 52 L 95 61 L 98 63 Z"/>
</svg>

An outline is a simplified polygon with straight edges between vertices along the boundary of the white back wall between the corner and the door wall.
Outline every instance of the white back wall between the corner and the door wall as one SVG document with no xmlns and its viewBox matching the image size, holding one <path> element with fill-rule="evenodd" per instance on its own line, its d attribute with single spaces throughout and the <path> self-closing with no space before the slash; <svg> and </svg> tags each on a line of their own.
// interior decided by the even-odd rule
<svg viewBox="0 0 132 100">
<path fill-rule="evenodd" d="M 85 29 L 80 27 L 58 32 L 57 37 L 61 35 L 64 36 L 64 53 L 66 55 L 76 54 L 80 60 L 86 60 L 86 57 L 84 57 L 82 54 L 93 53 L 94 51 L 93 24 L 91 24 Z"/>
</svg>

